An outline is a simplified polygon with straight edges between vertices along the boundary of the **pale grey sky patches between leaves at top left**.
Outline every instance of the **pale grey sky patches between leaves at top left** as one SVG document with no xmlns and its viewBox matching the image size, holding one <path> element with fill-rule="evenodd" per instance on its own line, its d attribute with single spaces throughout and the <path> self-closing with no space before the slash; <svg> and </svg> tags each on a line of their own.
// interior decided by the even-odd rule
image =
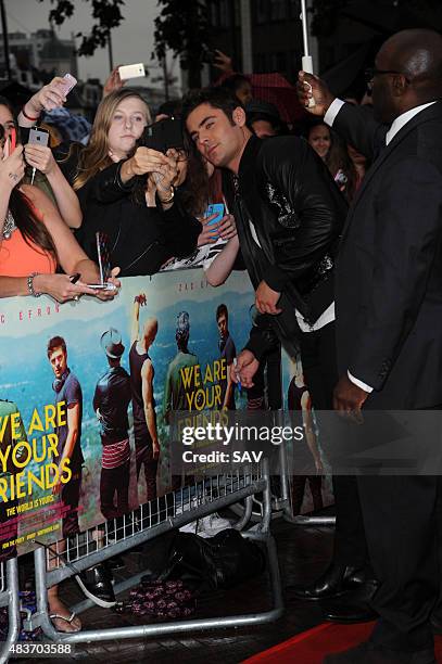
<svg viewBox="0 0 442 664">
<path fill-rule="evenodd" d="M 50 0 L 4 0 L 8 16 L 8 31 L 35 33 L 48 28 L 48 15 L 51 9 Z M 90 3 L 85 0 L 75 0 L 74 16 L 56 28 L 61 39 L 70 39 L 72 34 L 87 33 L 92 24 Z M 154 18 L 157 14 L 156 0 L 126 0 L 122 7 L 125 16 L 121 27 L 112 31 L 114 64 L 134 64 L 142 62 L 153 65 L 150 77 L 139 79 L 137 85 L 161 87 L 161 82 L 153 84 L 152 78 L 160 75 L 156 62 L 151 62 L 153 50 Z M 79 39 L 77 43 L 79 44 Z M 156 68 L 154 68 L 156 65 Z M 91 58 L 78 58 L 79 78 L 100 78 L 103 82 L 109 74 L 108 49 L 100 49 Z M 179 74 L 175 63 L 174 75 Z"/>
</svg>

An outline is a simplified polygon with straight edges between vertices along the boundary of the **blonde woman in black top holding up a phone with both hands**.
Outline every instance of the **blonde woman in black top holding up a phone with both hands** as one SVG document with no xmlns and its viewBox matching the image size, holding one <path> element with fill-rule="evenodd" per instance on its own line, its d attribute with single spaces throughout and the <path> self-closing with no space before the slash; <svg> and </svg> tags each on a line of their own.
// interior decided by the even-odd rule
<svg viewBox="0 0 442 664">
<path fill-rule="evenodd" d="M 121 266 L 122 276 L 152 274 L 172 256 L 189 255 L 201 232 L 174 189 L 186 155 L 137 148 L 150 119 L 136 92 L 122 89 L 105 97 L 73 178 L 84 214 L 78 240 L 96 258 L 96 231 L 104 231 L 112 264 Z M 146 192 L 141 199 L 134 195 L 140 180 Z"/>
</svg>

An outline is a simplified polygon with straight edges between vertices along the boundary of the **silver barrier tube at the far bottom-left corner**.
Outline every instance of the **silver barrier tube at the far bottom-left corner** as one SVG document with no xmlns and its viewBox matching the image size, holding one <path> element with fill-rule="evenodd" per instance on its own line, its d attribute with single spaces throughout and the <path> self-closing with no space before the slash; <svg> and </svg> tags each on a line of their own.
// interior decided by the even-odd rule
<svg viewBox="0 0 442 664">
<path fill-rule="evenodd" d="M 0 647 L 0 664 L 8 662 L 13 647 L 18 641 L 20 596 L 17 559 L 0 564 L 0 606 L 8 606 L 8 635 Z"/>
</svg>

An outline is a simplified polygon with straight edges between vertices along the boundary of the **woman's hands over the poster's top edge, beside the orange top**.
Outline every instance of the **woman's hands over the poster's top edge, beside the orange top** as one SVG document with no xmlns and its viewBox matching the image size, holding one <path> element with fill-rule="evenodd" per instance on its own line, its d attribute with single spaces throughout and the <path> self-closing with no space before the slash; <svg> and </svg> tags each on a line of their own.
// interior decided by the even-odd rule
<svg viewBox="0 0 442 664">
<path fill-rule="evenodd" d="M 112 283 L 115 289 L 109 291 L 91 289 L 81 279 L 73 283 L 68 274 L 36 274 L 33 285 L 36 293 L 46 293 L 60 303 L 77 302 L 81 295 L 91 295 L 92 297 L 106 301 L 113 299 L 118 294 L 122 285 L 119 279 L 116 278 L 118 273 L 119 268 L 112 270 L 109 283 Z"/>
</svg>

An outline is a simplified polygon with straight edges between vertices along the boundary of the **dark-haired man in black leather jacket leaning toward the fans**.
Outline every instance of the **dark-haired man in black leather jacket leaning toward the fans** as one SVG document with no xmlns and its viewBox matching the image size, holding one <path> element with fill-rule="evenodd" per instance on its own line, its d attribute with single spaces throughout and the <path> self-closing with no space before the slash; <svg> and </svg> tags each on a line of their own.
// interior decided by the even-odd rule
<svg viewBox="0 0 442 664">
<path fill-rule="evenodd" d="M 233 209 L 261 314 L 232 368 L 232 380 L 251 387 L 262 357 L 279 337 L 290 355 L 301 349 L 315 408 L 332 409 L 333 267 L 345 201 L 305 141 L 294 136 L 256 138 L 245 126 L 244 110 L 225 90 L 190 92 L 182 117 L 200 153 L 227 171 L 223 191 Z M 341 593 L 348 580 L 353 583 L 354 569 L 366 566 L 365 539 L 352 509 L 357 501 L 354 477 L 334 477 L 333 488 L 333 563 L 312 587 L 299 589 L 305 599 Z"/>
</svg>

